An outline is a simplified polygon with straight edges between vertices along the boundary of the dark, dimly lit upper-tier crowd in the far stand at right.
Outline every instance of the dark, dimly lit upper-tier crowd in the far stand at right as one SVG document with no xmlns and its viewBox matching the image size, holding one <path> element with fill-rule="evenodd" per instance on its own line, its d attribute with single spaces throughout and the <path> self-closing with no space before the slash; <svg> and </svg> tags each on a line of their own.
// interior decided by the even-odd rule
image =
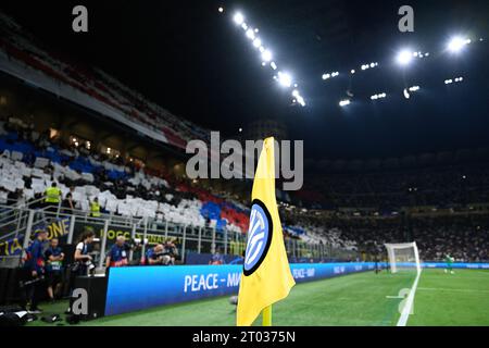
<svg viewBox="0 0 489 348">
<path fill-rule="evenodd" d="M 299 198 L 306 207 L 322 209 L 464 207 L 489 201 L 489 165 L 480 161 L 397 172 L 311 175 Z"/>
</svg>

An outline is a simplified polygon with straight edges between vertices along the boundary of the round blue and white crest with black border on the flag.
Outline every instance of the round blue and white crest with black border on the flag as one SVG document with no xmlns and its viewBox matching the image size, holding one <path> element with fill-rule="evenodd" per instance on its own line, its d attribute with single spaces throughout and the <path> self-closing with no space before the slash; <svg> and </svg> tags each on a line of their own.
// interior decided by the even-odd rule
<svg viewBox="0 0 489 348">
<path fill-rule="evenodd" d="M 259 199 L 253 200 L 244 252 L 244 275 L 253 274 L 265 259 L 272 243 L 273 231 L 272 217 L 265 204 Z"/>
</svg>

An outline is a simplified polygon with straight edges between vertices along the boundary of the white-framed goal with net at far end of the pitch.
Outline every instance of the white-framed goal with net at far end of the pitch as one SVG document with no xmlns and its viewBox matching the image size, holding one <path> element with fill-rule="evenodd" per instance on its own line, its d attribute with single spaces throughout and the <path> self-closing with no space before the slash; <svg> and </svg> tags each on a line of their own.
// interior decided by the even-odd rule
<svg viewBox="0 0 489 348">
<path fill-rule="evenodd" d="M 416 243 L 385 244 L 391 273 L 400 270 L 421 272 L 419 253 Z"/>
</svg>

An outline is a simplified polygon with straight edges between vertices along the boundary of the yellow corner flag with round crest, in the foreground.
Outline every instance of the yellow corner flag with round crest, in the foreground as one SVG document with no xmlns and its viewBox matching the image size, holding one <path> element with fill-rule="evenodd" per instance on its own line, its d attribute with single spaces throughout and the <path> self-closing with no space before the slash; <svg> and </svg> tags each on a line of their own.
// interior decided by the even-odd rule
<svg viewBox="0 0 489 348">
<path fill-rule="evenodd" d="M 275 199 L 274 138 L 266 138 L 251 192 L 250 227 L 239 284 L 237 325 L 249 326 L 264 309 L 271 325 L 271 306 L 289 295 L 296 284 L 284 246 Z M 265 316 L 264 316 L 265 318 Z"/>
</svg>

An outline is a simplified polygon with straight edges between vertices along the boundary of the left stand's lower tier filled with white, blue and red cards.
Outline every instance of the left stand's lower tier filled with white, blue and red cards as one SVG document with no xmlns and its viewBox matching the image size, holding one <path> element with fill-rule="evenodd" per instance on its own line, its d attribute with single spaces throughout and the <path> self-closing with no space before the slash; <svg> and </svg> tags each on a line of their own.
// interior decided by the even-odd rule
<svg viewBox="0 0 489 348">
<path fill-rule="evenodd" d="M 20 191 L 17 199 L 23 202 L 39 199 L 55 181 L 63 197 L 72 190 L 75 208 L 85 212 L 97 197 L 104 212 L 116 215 L 192 226 L 204 226 L 208 219 L 217 231 L 248 228 L 241 208 L 210 192 L 185 183 L 174 189 L 130 162 L 121 165 L 98 153 L 85 156 L 76 147 L 62 148 L 12 123 L 0 124 L 0 152 L 1 191 Z"/>
</svg>

